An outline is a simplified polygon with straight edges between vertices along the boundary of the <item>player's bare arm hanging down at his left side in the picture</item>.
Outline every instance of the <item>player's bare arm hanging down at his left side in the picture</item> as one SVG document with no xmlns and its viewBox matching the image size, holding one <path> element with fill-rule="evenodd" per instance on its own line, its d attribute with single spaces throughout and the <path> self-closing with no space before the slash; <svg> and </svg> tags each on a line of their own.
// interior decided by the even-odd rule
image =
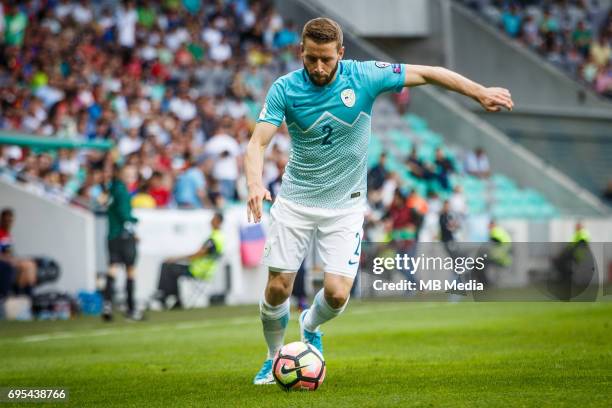
<svg viewBox="0 0 612 408">
<path fill-rule="evenodd" d="M 277 126 L 268 122 L 259 122 L 247 146 L 244 158 L 244 169 L 249 188 L 249 199 L 247 202 L 247 217 L 249 222 L 261 221 L 263 200 L 272 201 L 270 192 L 263 186 L 263 160 L 266 147 L 272 141 Z"/>
</svg>

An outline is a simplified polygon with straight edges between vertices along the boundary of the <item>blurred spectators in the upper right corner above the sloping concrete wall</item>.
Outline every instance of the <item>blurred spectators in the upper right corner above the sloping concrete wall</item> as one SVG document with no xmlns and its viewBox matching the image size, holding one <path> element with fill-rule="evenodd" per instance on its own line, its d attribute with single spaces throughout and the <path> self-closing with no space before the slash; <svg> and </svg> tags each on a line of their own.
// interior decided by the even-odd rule
<svg viewBox="0 0 612 408">
<path fill-rule="evenodd" d="M 612 8 L 598 0 L 462 0 L 508 36 L 612 98 Z"/>
</svg>

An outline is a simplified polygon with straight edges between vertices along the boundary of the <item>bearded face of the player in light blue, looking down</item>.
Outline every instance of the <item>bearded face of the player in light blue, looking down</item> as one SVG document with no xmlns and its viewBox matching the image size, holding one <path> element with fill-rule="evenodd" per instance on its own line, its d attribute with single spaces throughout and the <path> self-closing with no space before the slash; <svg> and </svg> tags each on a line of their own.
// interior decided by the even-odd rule
<svg viewBox="0 0 612 408">
<path fill-rule="evenodd" d="M 307 38 L 302 43 L 302 61 L 310 80 L 318 86 L 329 84 L 336 75 L 338 62 L 344 56 L 344 47 L 334 42 L 317 44 Z"/>
</svg>

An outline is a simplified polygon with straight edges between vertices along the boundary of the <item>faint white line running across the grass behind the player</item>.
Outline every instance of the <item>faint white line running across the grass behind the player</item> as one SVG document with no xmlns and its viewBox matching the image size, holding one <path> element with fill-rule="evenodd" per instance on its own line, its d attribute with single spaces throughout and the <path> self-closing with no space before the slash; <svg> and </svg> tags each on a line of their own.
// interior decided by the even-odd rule
<svg viewBox="0 0 612 408">
<path fill-rule="evenodd" d="M 405 310 L 408 306 L 408 302 L 403 304 L 394 304 L 383 307 L 367 308 L 366 306 L 360 306 L 356 310 L 347 311 L 348 315 L 364 315 L 364 314 L 373 314 L 373 313 L 388 313 L 395 311 Z M 438 306 L 437 303 L 412 303 L 410 304 L 410 308 L 430 308 Z M 297 319 L 297 316 L 294 314 L 294 318 Z M 111 336 L 117 334 L 132 334 L 132 333 L 147 333 L 147 332 L 155 332 L 155 331 L 163 331 L 163 330 L 192 330 L 192 329 L 202 329 L 207 327 L 216 327 L 216 326 L 239 326 L 245 324 L 259 324 L 259 319 L 254 317 L 236 317 L 231 319 L 214 319 L 214 320 L 206 320 L 206 321 L 188 321 L 188 322 L 180 322 L 176 324 L 158 324 L 155 326 L 143 326 L 140 328 L 131 327 L 131 328 L 105 328 L 105 329 L 94 329 L 94 330 L 86 330 L 86 331 L 75 331 L 75 332 L 53 332 L 47 334 L 36 334 L 31 336 L 24 336 L 19 338 L 23 343 L 38 343 L 49 340 L 63 340 L 63 339 L 78 339 L 84 337 L 99 337 L 99 336 Z M 12 339 L 5 339 L 6 341 L 12 341 Z"/>
</svg>

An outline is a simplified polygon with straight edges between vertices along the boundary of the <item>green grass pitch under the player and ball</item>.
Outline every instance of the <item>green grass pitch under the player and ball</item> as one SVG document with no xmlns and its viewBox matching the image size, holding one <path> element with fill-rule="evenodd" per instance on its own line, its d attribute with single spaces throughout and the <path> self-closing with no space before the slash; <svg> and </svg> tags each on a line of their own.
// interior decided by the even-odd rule
<svg viewBox="0 0 612 408">
<path fill-rule="evenodd" d="M 311 393 L 251 384 L 265 349 L 257 313 L 0 322 L 0 387 L 64 387 L 68 403 L 44 406 L 74 407 L 612 406 L 609 302 L 352 301 L 324 326 L 327 378 Z"/>
</svg>

